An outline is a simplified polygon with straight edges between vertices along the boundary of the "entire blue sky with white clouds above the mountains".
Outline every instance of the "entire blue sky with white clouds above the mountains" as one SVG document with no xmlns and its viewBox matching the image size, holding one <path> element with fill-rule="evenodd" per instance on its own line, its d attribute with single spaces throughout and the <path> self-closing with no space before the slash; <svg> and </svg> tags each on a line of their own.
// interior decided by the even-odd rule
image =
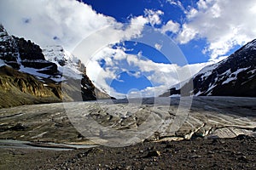
<svg viewBox="0 0 256 170">
<path fill-rule="evenodd" d="M 256 38 L 255 0 L 9 0 L 0 22 L 61 45 L 115 97 L 157 96 Z"/>
</svg>

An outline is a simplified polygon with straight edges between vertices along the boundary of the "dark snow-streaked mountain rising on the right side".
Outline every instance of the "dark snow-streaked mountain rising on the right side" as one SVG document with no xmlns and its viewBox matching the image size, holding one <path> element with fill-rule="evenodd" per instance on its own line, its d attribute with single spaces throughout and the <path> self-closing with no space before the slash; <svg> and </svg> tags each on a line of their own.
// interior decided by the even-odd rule
<svg viewBox="0 0 256 170">
<path fill-rule="evenodd" d="M 217 64 L 207 65 L 192 77 L 182 88 L 170 88 L 160 96 L 180 94 L 189 89 L 196 96 L 237 96 L 256 97 L 256 39 Z"/>
</svg>

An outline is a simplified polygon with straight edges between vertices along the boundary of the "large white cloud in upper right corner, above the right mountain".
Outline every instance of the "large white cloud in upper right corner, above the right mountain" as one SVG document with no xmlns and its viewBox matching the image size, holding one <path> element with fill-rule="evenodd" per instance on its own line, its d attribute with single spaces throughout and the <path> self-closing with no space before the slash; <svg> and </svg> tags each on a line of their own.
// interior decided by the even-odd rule
<svg viewBox="0 0 256 170">
<path fill-rule="evenodd" d="M 200 0 L 195 8 L 184 11 L 187 22 L 178 33 L 177 41 L 187 43 L 207 38 L 204 52 L 216 60 L 236 45 L 256 37 L 256 2 L 254 0 Z"/>
</svg>

